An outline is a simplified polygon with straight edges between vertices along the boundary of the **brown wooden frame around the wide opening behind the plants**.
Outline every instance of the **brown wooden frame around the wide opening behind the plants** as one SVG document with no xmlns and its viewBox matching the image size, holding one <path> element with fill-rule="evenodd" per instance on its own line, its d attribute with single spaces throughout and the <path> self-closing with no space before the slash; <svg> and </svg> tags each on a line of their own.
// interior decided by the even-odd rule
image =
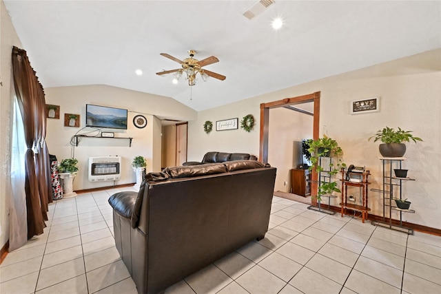
<svg viewBox="0 0 441 294">
<path fill-rule="evenodd" d="M 260 104 L 260 147 L 259 158 L 263 163 L 268 162 L 268 137 L 269 137 L 269 109 L 285 107 L 288 105 L 314 102 L 314 121 L 312 127 L 312 138 L 318 139 L 319 119 L 320 119 L 320 92 L 314 92 L 303 96 L 285 98 L 279 101 Z M 317 195 L 317 173 L 311 173 L 311 195 Z M 316 204 L 316 198 L 311 198 L 312 204 Z"/>
</svg>

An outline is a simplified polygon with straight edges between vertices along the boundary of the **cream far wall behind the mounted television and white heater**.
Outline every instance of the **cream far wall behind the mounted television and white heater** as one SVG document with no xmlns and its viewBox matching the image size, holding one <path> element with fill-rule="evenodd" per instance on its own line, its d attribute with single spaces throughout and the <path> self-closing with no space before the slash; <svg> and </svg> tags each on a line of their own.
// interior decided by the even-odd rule
<svg viewBox="0 0 441 294">
<path fill-rule="evenodd" d="M 60 106 L 60 119 L 47 119 L 46 142 L 50 154 L 63 158 L 79 160 L 79 173 L 74 180 L 74 190 L 107 187 L 110 182 L 89 182 L 88 158 L 91 156 L 121 156 L 121 180 L 116 185 L 135 182 L 131 164 L 135 156 L 144 156 L 147 160 L 147 172 L 161 171 L 161 121 L 156 116 L 167 116 L 178 120 L 192 120 L 196 112 L 178 103 L 172 98 L 145 94 L 141 92 L 111 87 L 107 85 L 83 85 L 72 87 L 52 87 L 45 89 L 46 103 Z M 103 132 L 115 132 L 115 137 L 132 137 L 132 147 L 128 140 L 110 138 L 81 138 L 78 147 L 72 147 L 70 140 L 77 132 L 84 134 L 94 129 L 85 127 L 85 105 L 103 105 L 128 109 L 127 130 L 103 129 Z M 79 114 L 80 127 L 64 127 L 64 114 Z M 134 127 L 132 120 L 136 114 L 147 118 L 143 129 Z M 92 132 L 90 135 L 94 135 Z"/>
</svg>

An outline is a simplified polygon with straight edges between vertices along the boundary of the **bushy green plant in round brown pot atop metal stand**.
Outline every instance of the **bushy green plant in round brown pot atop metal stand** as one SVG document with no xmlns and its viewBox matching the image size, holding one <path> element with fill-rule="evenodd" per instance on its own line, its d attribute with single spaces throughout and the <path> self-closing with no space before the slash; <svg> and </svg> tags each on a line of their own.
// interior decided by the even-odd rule
<svg viewBox="0 0 441 294">
<path fill-rule="evenodd" d="M 410 142 L 412 140 L 414 143 L 417 143 L 417 141 L 422 141 L 421 138 L 413 136 L 411 132 L 404 131 L 400 127 L 398 127 L 398 130 L 384 127 L 368 140 L 375 138 L 373 142 L 378 140 L 382 142 L 379 149 L 383 157 L 402 157 L 406 153 L 406 145 L 403 142 Z"/>
</svg>

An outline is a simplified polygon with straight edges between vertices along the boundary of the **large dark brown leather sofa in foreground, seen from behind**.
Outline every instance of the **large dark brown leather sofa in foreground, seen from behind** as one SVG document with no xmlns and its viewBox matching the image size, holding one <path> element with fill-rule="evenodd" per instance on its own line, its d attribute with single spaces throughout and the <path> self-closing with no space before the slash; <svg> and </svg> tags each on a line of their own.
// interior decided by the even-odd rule
<svg viewBox="0 0 441 294">
<path fill-rule="evenodd" d="M 256 160 L 167 167 L 139 193 L 109 199 L 114 236 L 138 293 L 159 293 L 264 238 L 276 168 Z"/>
</svg>

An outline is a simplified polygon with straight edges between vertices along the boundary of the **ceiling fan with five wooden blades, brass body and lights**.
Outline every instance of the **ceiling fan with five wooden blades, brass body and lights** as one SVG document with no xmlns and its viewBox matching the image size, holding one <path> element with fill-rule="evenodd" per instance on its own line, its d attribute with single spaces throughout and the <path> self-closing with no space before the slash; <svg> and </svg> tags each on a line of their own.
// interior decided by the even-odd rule
<svg viewBox="0 0 441 294">
<path fill-rule="evenodd" d="M 186 78 L 188 80 L 188 85 L 193 86 L 196 85 L 196 74 L 199 73 L 203 81 L 206 81 L 208 76 L 212 76 L 213 78 L 217 78 L 220 81 L 225 80 L 226 76 L 222 74 L 216 74 L 216 72 L 210 72 L 209 70 L 204 70 L 202 67 L 205 65 L 209 65 L 212 63 L 219 62 L 219 59 L 215 56 L 209 56 L 206 59 L 198 61 L 194 59 L 193 56 L 196 54 L 195 50 L 188 50 L 189 58 L 184 59 L 183 61 L 176 59 L 170 54 L 161 53 L 162 56 L 167 57 L 167 59 L 172 59 L 172 61 L 176 61 L 180 63 L 182 68 L 178 68 L 176 70 L 163 70 L 162 72 L 156 72 L 159 76 L 162 74 L 171 74 L 174 72 L 174 83 L 177 83 L 179 78 L 181 78 L 182 74 L 185 73 Z"/>
</svg>

